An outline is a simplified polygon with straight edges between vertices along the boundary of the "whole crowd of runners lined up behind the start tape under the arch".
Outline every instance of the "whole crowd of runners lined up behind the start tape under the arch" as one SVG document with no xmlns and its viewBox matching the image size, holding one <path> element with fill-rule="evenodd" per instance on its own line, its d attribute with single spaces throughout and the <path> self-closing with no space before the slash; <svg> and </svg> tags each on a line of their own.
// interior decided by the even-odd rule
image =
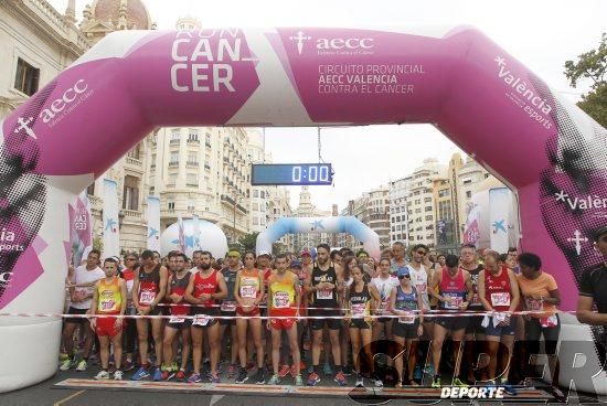
<svg viewBox="0 0 607 406">
<path fill-rule="evenodd" d="M 607 256 L 607 243 L 599 249 Z M 385 374 L 374 355 L 388 343 L 402 349 L 386 361 L 396 387 L 480 383 L 515 395 L 543 336 L 552 391 L 563 396 L 555 356 L 561 297 L 537 255 L 473 245 L 443 255 L 403 243 L 380 260 L 326 244 L 315 254 L 233 249 L 225 258 L 195 252 L 190 259 L 145 250 L 123 263 L 100 261 L 93 250 L 67 278 L 73 317 L 65 319 L 60 368 L 86 371 L 95 349 L 97 380 L 130 372 L 134 381 L 279 384 L 290 375 L 295 385 L 315 386 L 324 375 L 340 386 L 366 378 L 381 387 Z M 511 313 L 520 311 L 529 313 Z"/>
</svg>

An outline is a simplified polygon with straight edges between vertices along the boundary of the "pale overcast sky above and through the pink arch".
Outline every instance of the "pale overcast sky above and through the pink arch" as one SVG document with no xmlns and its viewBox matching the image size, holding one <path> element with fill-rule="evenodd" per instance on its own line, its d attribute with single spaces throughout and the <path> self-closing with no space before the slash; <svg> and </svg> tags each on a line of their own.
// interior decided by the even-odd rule
<svg viewBox="0 0 607 406">
<path fill-rule="evenodd" d="M 49 0 L 63 12 L 67 0 Z M 471 24 L 534 71 L 549 85 L 577 99 L 585 87 L 569 88 L 563 64 L 596 49 L 607 31 L 604 0 L 143 0 L 159 29 L 193 15 L 204 26 L 419 26 Z M 77 18 L 87 1 L 76 0 Z M 458 151 L 427 125 L 322 129 L 322 158 L 336 170 L 333 186 L 312 188 L 312 202 L 329 210 L 390 180 L 411 173 L 424 158 L 447 163 Z M 370 142 L 373 137 L 373 142 Z M 423 142 L 420 142 L 423 140 Z M 316 128 L 266 129 L 275 162 L 316 162 Z M 299 188 L 291 188 L 297 205 Z"/>
</svg>

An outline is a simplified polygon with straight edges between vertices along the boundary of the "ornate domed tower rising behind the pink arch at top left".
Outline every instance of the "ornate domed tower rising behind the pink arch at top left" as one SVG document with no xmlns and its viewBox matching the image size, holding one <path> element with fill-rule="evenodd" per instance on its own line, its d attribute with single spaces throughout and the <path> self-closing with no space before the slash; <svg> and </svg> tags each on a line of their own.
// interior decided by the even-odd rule
<svg viewBox="0 0 607 406">
<path fill-rule="evenodd" d="M 142 0 L 95 0 L 83 17 L 81 30 L 93 43 L 118 30 L 156 28 Z"/>
</svg>

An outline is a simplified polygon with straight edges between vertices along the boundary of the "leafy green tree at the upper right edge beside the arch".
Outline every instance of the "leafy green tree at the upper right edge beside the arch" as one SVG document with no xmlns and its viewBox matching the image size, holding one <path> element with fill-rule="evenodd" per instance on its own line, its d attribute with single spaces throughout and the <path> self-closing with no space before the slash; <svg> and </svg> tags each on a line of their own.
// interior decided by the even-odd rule
<svg viewBox="0 0 607 406">
<path fill-rule="evenodd" d="M 578 56 L 578 61 L 565 62 L 565 76 L 573 87 L 579 79 L 590 79 L 590 92 L 582 96 L 577 106 L 603 127 L 607 127 L 607 33 L 603 33 L 598 49 Z"/>
</svg>

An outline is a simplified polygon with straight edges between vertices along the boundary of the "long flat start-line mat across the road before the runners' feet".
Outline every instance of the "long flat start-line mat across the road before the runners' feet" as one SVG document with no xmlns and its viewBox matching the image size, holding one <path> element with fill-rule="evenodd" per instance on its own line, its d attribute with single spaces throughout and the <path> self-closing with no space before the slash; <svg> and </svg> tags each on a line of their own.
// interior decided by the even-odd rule
<svg viewBox="0 0 607 406">
<path fill-rule="evenodd" d="M 54 388 L 70 389 L 108 389 L 108 391 L 135 391 L 135 392 L 172 392 L 184 394 L 205 395 L 247 395 L 247 396 L 279 396 L 279 397 L 351 397 L 353 400 L 439 400 L 440 388 L 433 387 L 403 387 L 403 388 L 353 388 L 334 386 L 291 386 L 291 385 L 247 385 L 247 384 L 189 384 L 178 382 L 141 382 L 141 381 L 96 381 L 68 378 L 54 385 Z M 542 403 L 552 400 L 553 397 L 537 388 L 521 388 L 517 396 L 505 395 L 502 403 Z M 494 399 L 493 399 L 494 400 Z M 375 403 L 374 402 L 374 403 Z M 482 400 L 481 400 L 482 402 Z"/>
</svg>

